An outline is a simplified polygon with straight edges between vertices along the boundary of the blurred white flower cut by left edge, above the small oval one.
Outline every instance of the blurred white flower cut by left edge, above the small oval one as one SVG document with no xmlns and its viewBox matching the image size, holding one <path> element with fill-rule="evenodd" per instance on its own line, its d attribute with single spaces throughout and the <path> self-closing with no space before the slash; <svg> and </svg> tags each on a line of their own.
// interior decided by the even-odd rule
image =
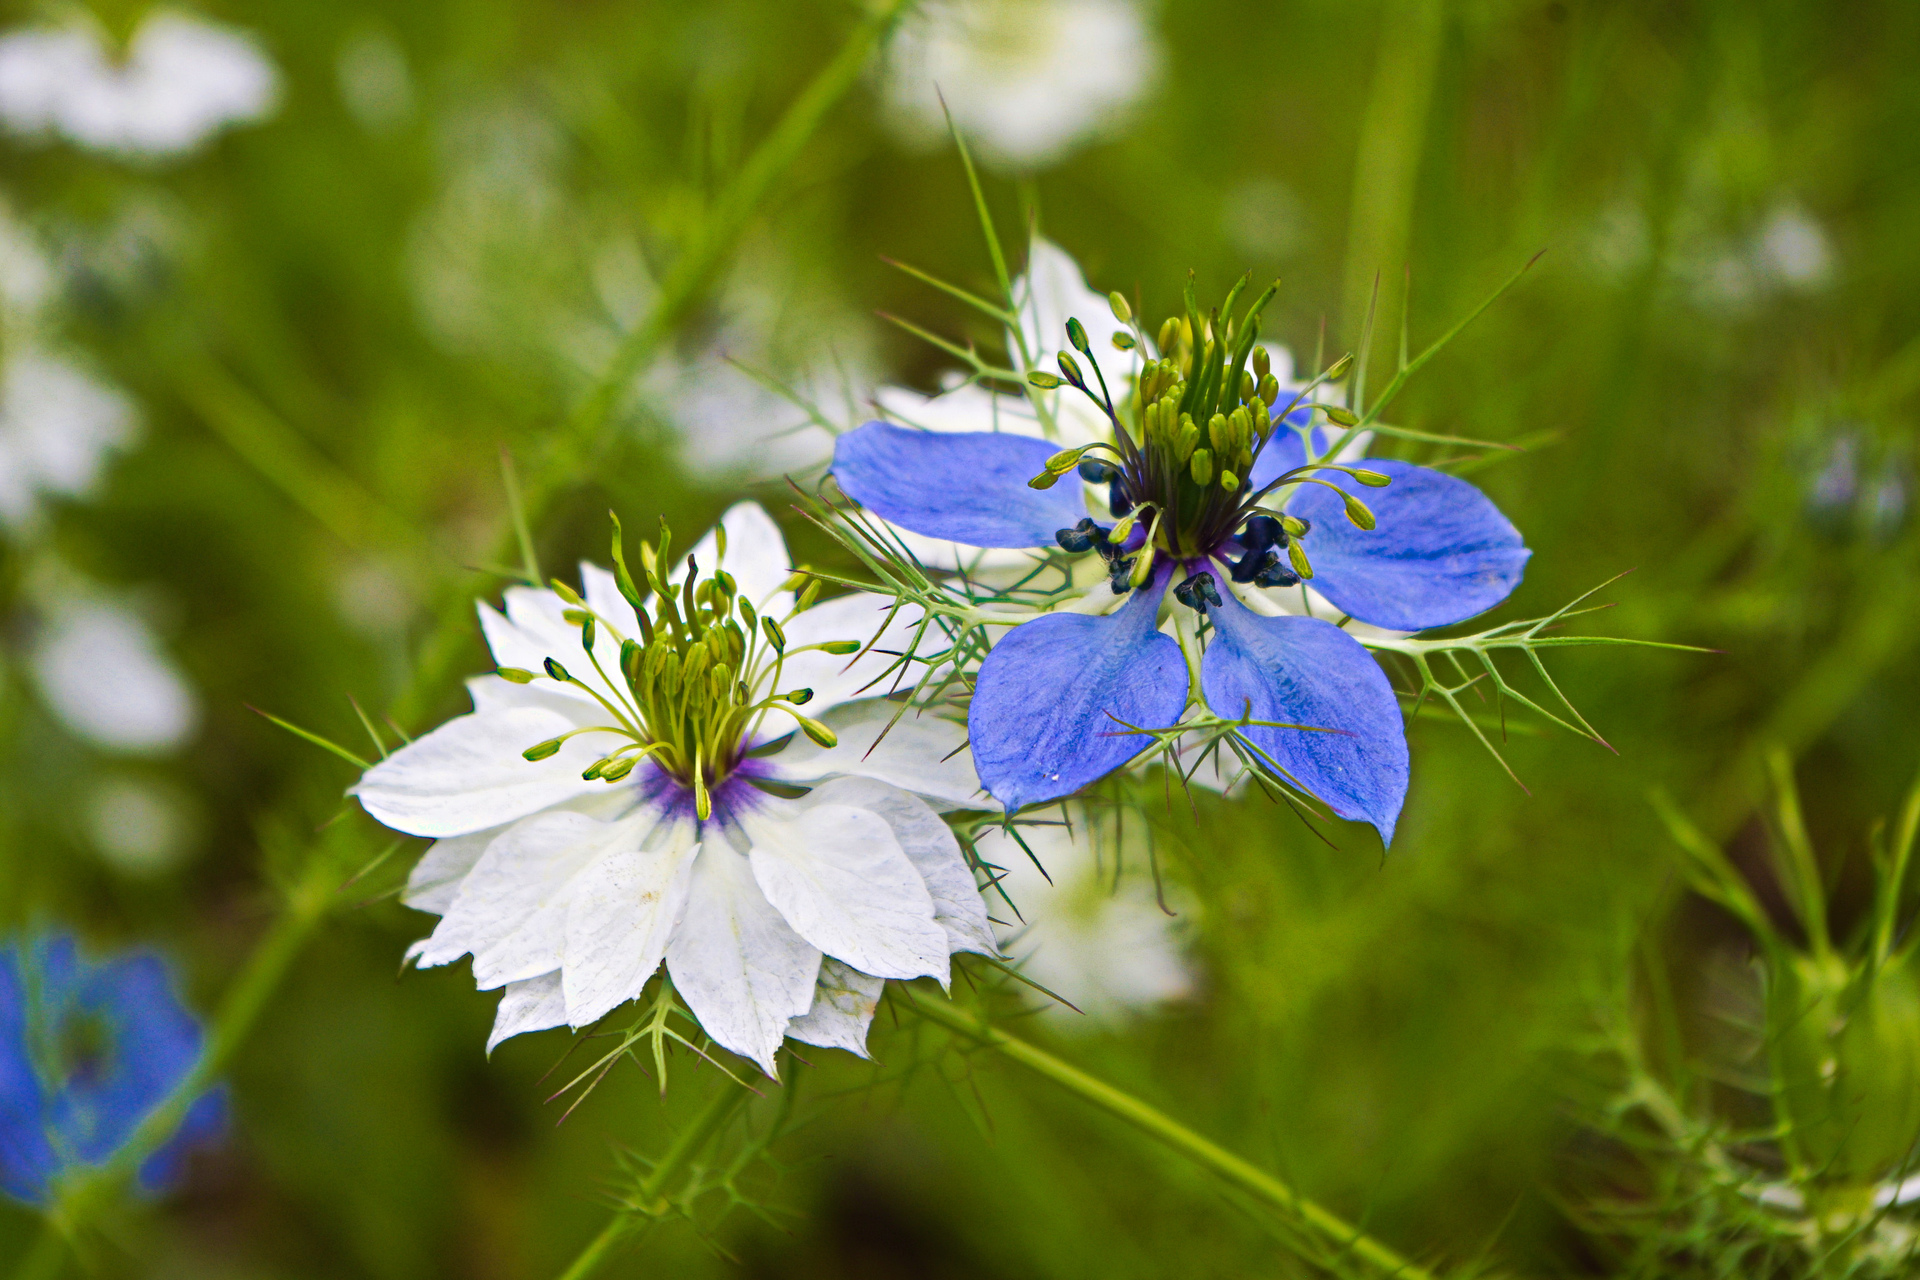
<svg viewBox="0 0 1920 1280">
<path fill-rule="evenodd" d="M 40 495 L 84 497 L 134 434 L 132 403 L 67 361 L 13 349 L 0 365 L 0 524 L 25 526 Z"/>
</svg>

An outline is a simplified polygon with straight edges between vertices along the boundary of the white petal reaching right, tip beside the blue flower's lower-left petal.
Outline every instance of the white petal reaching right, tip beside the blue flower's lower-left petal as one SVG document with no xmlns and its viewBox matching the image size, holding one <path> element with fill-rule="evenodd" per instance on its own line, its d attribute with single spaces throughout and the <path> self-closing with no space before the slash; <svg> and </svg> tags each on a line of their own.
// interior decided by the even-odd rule
<svg viewBox="0 0 1920 1280">
<path fill-rule="evenodd" d="M 797 785 L 828 777 L 877 777 L 941 808 L 998 808 L 979 789 L 966 729 L 914 708 L 893 723 L 899 712 L 900 704 L 885 699 L 847 702 L 820 716 L 839 745 L 824 748 L 795 733 L 780 754 L 758 764 L 768 775 Z"/>
</svg>

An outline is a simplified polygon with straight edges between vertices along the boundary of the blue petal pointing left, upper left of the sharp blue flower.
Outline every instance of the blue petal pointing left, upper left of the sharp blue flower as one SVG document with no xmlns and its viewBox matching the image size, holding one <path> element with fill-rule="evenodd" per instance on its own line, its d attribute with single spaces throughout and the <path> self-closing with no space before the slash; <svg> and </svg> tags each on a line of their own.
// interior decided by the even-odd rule
<svg viewBox="0 0 1920 1280">
<path fill-rule="evenodd" d="M 1052 547 L 1079 524 L 1077 476 L 1031 489 L 1058 445 L 1002 432 L 914 432 L 868 422 L 833 443 L 833 478 L 847 497 L 902 530 L 970 547 Z"/>
</svg>

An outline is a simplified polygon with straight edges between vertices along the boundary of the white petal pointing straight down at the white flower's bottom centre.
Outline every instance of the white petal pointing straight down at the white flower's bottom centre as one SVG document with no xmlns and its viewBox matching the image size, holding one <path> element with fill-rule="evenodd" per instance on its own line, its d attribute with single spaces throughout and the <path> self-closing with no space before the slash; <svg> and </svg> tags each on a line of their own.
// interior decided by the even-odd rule
<svg viewBox="0 0 1920 1280">
<path fill-rule="evenodd" d="M 666 969 L 707 1034 L 772 1077 L 787 1023 L 812 1006 L 820 948 L 781 919 L 747 858 L 712 839 L 693 865 Z"/>
</svg>

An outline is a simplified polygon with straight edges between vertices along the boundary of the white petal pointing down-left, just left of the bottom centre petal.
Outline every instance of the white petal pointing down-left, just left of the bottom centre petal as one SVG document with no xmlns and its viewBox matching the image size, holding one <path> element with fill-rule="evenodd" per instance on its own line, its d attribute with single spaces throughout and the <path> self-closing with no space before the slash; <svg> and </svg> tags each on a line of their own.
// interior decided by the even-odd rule
<svg viewBox="0 0 1920 1280">
<path fill-rule="evenodd" d="M 693 823 L 674 823 L 651 848 L 622 846 L 580 875 L 566 904 L 566 1021 L 586 1027 L 639 994 L 666 958 L 687 902 Z"/>
</svg>

